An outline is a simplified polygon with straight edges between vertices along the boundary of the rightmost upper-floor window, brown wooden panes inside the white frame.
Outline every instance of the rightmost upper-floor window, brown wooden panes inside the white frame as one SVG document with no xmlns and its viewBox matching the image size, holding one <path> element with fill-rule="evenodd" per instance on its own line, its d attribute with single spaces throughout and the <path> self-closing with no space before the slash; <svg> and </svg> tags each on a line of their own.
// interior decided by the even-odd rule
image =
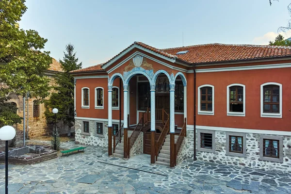
<svg viewBox="0 0 291 194">
<path fill-rule="evenodd" d="M 265 85 L 263 87 L 263 113 L 280 112 L 280 89 L 278 85 Z"/>
</svg>

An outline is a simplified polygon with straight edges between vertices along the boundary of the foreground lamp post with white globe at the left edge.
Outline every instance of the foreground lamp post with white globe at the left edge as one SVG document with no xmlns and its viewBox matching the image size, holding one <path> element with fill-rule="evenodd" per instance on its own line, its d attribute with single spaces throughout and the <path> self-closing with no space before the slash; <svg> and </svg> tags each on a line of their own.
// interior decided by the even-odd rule
<svg viewBox="0 0 291 194">
<path fill-rule="evenodd" d="M 8 194 L 8 141 L 12 140 L 16 131 L 12 126 L 0 128 L 0 139 L 5 141 L 5 194 Z"/>
</svg>

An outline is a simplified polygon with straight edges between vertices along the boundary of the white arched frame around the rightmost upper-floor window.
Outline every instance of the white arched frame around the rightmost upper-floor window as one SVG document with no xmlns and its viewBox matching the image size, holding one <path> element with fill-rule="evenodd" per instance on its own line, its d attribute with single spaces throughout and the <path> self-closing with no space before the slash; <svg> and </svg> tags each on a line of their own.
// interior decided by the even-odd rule
<svg viewBox="0 0 291 194">
<path fill-rule="evenodd" d="M 264 113 L 264 86 L 266 85 L 277 85 L 279 86 L 279 113 Z M 282 84 L 276 82 L 267 82 L 261 84 L 261 91 L 260 91 L 260 106 L 261 106 L 261 117 L 270 117 L 270 118 L 282 118 Z"/>
</svg>

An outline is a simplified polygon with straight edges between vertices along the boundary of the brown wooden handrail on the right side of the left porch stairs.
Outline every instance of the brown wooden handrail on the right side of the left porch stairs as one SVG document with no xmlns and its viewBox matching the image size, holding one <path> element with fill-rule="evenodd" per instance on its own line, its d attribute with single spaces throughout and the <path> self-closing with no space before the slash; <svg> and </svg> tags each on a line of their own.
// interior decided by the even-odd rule
<svg viewBox="0 0 291 194">
<path fill-rule="evenodd" d="M 140 134 L 141 130 L 144 128 L 144 125 L 149 121 L 149 109 L 146 109 L 146 112 L 143 113 L 142 118 L 139 120 L 138 124 L 136 125 L 135 129 L 132 131 L 131 135 L 128 138 L 128 158 L 129 158 L 129 151 L 132 145 L 134 144 L 135 140 L 137 139 L 138 135 Z M 124 145 L 126 146 L 126 145 Z"/>
</svg>

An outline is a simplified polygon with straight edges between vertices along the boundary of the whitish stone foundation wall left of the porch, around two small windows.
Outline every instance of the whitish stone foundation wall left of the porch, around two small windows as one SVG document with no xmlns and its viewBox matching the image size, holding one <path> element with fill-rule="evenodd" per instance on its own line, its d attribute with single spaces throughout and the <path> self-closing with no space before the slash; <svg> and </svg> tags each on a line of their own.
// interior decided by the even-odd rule
<svg viewBox="0 0 291 194">
<path fill-rule="evenodd" d="M 82 134 L 82 122 L 88 120 L 75 119 L 75 142 L 81 145 L 108 147 L 108 123 L 103 125 L 103 137 L 97 135 L 96 122 L 89 121 L 89 134 Z"/>
</svg>

